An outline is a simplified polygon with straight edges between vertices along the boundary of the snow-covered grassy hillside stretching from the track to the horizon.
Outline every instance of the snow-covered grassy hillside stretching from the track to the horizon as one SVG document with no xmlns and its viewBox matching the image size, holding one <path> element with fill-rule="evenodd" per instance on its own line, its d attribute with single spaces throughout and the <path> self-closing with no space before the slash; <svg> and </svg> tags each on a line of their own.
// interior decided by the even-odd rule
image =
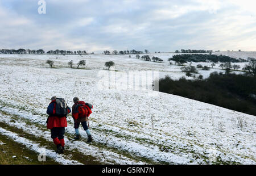
<svg viewBox="0 0 256 176">
<path fill-rule="evenodd" d="M 255 52 L 222 53 L 230 54 L 256 56 Z M 114 89 L 113 79 L 106 77 L 110 73 L 123 82 L 126 77 L 118 77 L 131 71 L 150 70 L 174 79 L 185 76 L 180 66 L 168 64 L 175 53 L 150 55 L 164 62 L 142 61 L 135 55 L 0 55 L 0 124 L 5 124 L 0 125 L 1 135 L 38 153 L 45 149 L 60 164 L 256 164 L 255 116 L 175 95 L 154 95 L 152 90 Z M 55 61 L 56 68 L 49 68 L 48 59 Z M 68 68 L 69 61 L 76 64 L 84 59 L 84 69 Z M 104 70 L 110 60 L 116 72 Z M 200 74 L 207 77 L 214 70 L 222 71 L 216 64 Z M 102 89 L 100 82 L 108 86 Z M 89 121 L 93 143 L 85 143 L 81 127 L 84 140 L 72 139 L 75 131 L 68 116 L 66 152 L 54 152 L 46 129 L 46 108 L 53 95 L 65 98 L 69 106 L 76 96 L 93 104 Z"/>
</svg>

